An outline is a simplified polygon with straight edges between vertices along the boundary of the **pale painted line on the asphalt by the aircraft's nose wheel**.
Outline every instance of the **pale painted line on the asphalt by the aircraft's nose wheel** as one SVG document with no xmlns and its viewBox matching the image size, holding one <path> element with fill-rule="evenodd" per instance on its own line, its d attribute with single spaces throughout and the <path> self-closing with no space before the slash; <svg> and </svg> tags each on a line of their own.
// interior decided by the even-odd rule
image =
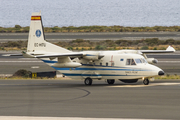
<svg viewBox="0 0 180 120">
<path fill-rule="evenodd" d="M 167 85 L 180 85 L 180 83 L 150 83 L 149 85 L 118 85 L 109 87 L 151 87 L 151 86 L 167 86 Z"/>
</svg>

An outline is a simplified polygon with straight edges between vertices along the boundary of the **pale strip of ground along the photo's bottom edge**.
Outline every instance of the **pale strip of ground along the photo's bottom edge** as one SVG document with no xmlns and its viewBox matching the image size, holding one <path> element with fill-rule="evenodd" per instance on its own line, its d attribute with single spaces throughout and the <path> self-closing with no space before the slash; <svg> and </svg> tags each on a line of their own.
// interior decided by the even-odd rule
<svg viewBox="0 0 180 120">
<path fill-rule="evenodd" d="M 30 117 L 30 116 L 0 116 L 0 120 L 144 120 L 126 118 L 81 118 L 81 117 Z M 146 119 L 163 120 L 163 119 Z M 167 120 L 167 119 L 166 119 Z"/>
</svg>

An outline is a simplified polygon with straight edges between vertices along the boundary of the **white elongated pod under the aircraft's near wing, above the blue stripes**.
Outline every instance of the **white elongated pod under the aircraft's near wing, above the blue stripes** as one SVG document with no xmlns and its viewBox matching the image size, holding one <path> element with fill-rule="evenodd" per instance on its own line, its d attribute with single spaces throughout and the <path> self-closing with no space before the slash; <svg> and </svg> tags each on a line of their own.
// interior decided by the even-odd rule
<svg viewBox="0 0 180 120">
<path fill-rule="evenodd" d="M 81 64 L 75 62 L 67 62 L 67 63 L 54 63 L 52 66 L 58 68 L 67 68 L 67 67 L 75 68 L 81 66 Z"/>
</svg>

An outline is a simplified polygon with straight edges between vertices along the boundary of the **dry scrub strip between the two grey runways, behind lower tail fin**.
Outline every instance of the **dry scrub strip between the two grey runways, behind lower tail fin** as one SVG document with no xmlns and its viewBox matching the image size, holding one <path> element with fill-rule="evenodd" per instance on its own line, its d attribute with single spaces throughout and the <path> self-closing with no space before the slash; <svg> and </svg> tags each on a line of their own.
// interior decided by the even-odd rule
<svg viewBox="0 0 180 120">
<path fill-rule="evenodd" d="M 165 50 L 169 45 L 173 45 L 176 50 L 180 50 L 180 40 L 159 40 L 158 38 L 148 38 L 141 40 L 102 40 L 89 41 L 76 39 L 72 41 L 59 41 L 56 44 L 68 50 Z M 0 50 L 26 50 L 27 41 L 8 41 L 0 43 Z"/>
</svg>

